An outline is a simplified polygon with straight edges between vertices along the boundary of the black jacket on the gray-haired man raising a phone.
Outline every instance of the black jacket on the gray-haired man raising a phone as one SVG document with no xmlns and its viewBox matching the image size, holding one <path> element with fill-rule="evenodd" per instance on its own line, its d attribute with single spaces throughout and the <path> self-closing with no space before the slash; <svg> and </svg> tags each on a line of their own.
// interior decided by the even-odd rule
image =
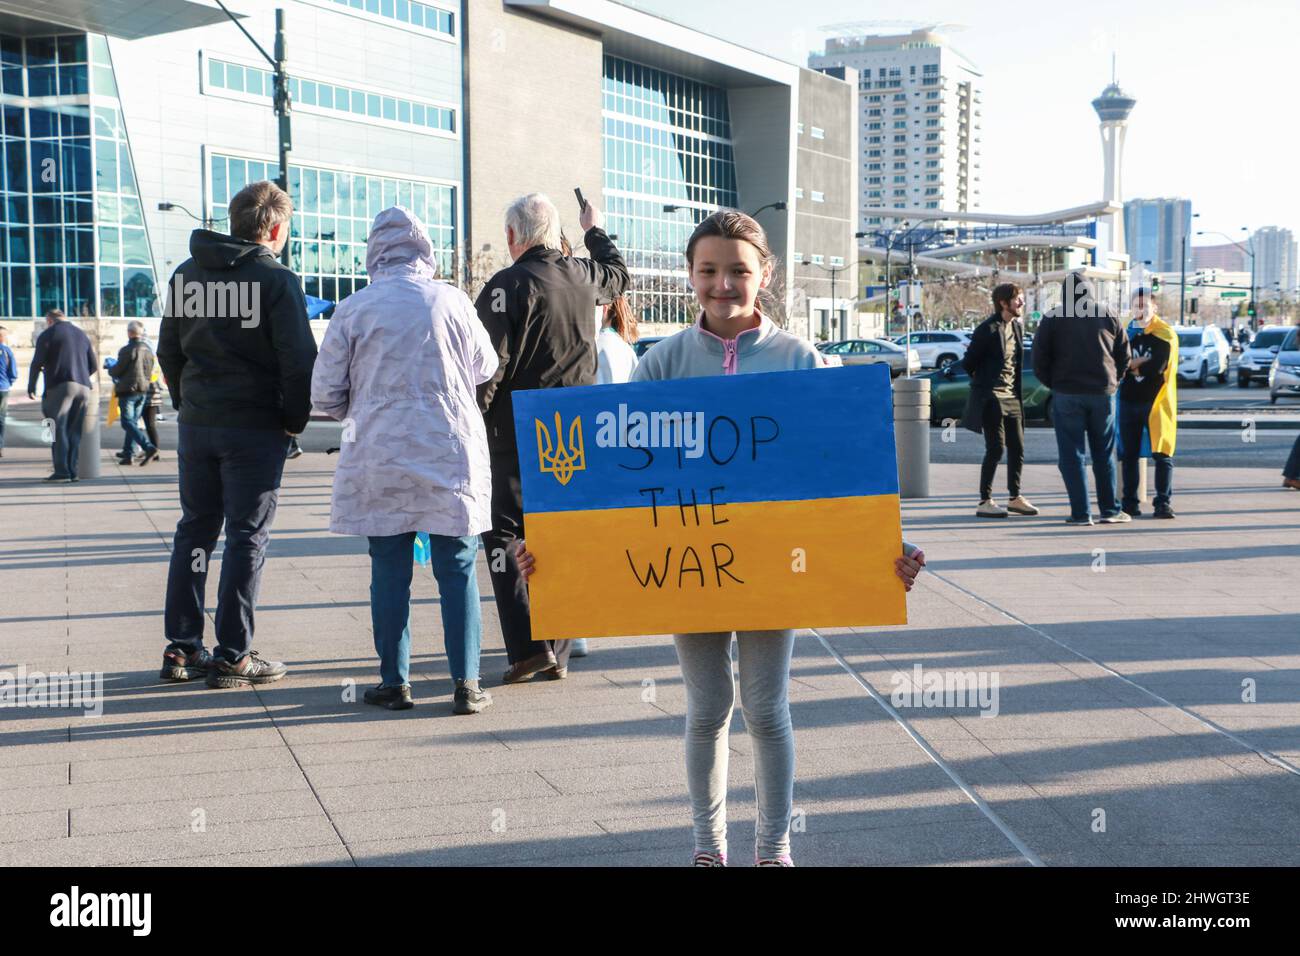
<svg viewBox="0 0 1300 956">
<path fill-rule="evenodd" d="M 628 289 L 628 267 L 603 229 L 589 229 L 590 259 L 534 246 L 493 276 L 474 302 L 497 349 L 497 375 L 478 386 L 494 450 L 515 450 L 511 393 L 595 385 L 595 307 Z"/>
</svg>

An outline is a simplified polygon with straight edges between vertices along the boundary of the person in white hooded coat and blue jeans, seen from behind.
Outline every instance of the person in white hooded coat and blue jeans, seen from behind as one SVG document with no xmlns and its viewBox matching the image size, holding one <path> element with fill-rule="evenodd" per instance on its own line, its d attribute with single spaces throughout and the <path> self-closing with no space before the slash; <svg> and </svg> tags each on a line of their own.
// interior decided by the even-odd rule
<svg viewBox="0 0 1300 956">
<path fill-rule="evenodd" d="M 365 268 L 369 285 L 334 310 L 312 373 L 312 405 L 343 423 L 330 531 L 369 540 L 381 683 L 364 698 L 413 706 L 413 545 L 428 532 L 452 710 L 476 713 L 491 702 L 478 685 L 474 562 L 477 536 L 491 528 L 491 468 L 476 390 L 497 371 L 497 351 L 469 298 L 438 280 L 411 211 L 376 216 Z"/>
</svg>

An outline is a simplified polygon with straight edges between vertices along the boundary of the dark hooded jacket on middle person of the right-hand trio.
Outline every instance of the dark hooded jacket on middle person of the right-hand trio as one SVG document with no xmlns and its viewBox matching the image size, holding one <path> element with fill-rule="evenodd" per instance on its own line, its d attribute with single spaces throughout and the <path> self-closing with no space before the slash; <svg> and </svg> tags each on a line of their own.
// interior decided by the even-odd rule
<svg viewBox="0 0 1300 956">
<path fill-rule="evenodd" d="M 1061 304 L 1043 316 L 1034 336 L 1034 375 L 1065 395 L 1113 395 L 1128 371 L 1128 336 L 1097 302 L 1092 284 L 1061 284 Z"/>
</svg>

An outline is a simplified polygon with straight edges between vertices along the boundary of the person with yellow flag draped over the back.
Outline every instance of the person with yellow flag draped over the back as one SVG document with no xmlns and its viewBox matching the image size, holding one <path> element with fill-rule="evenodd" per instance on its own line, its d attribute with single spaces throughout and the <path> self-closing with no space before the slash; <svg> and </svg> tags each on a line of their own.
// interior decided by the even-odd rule
<svg viewBox="0 0 1300 956">
<path fill-rule="evenodd" d="M 1149 438 L 1156 462 L 1156 518 L 1174 518 L 1174 442 L 1178 437 L 1178 333 L 1156 315 L 1150 289 L 1132 297 L 1136 334 L 1130 338 L 1132 358 L 1119 385 L 1119 505 L 1130 518 L 1141 515 L 1138 505 L 1143 437 Z"/>
</svg>

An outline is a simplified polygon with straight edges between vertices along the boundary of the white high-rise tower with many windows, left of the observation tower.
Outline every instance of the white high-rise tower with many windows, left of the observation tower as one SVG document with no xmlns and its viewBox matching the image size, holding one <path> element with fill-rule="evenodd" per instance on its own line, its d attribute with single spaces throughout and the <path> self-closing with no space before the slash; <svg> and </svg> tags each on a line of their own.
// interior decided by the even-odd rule
<svg viewBox="0 0 1300 956">
<path fill-rule="evenodd" d="M 885 233 L 889 208 L 980 208 L 979 69 L 937 27 L 832 38 L 809 57 L 858 70 L 858 226 Z"/>
</svg>

